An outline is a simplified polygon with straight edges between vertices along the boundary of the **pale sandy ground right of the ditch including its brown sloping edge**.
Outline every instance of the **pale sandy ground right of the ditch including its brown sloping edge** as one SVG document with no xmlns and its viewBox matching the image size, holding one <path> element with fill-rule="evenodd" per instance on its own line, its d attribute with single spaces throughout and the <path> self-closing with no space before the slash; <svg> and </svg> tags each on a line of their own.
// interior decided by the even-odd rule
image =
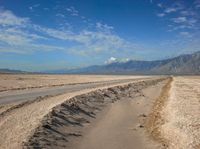
<svg viewBox="0 0 200 149">
<path fill-rule="evenodd" d="M 163 148 L 200 149 L 199 93 L 200 80 L 192 76 L 175 77 L 163 87 L 145 125 Z"/>
</svg>

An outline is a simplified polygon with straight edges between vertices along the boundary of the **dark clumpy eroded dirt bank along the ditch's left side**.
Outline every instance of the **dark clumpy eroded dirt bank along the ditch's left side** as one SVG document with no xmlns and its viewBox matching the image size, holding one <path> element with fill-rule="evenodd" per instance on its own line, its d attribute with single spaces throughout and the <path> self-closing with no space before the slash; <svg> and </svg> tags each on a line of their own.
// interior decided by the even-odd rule
<svg viewBox="0 0 200 149">
<path fill-rule="evenodd" d="M 52 109 L 41 125 L 24 142 L 24 148 L 66 148 L 75 137 L 82 136 L 97 113 L 107 105 L 124 97 L 141 95 L 141 90 L 165 80 L 155 79 L 93 91 L 73 97 Z"/>
</svg>

